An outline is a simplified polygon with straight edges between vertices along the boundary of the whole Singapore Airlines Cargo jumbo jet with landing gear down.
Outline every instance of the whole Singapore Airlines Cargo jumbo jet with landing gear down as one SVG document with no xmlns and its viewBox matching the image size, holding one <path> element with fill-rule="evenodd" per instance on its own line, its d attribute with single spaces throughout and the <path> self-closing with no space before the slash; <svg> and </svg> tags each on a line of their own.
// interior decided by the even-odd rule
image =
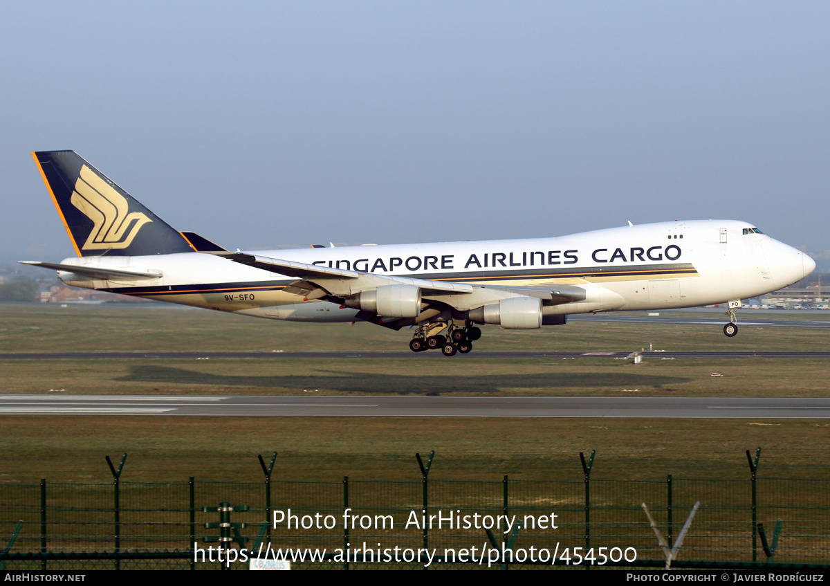
<svg viewBox="0 0 830 586">
<path fill-rule="evenodd" d="M 569 314 L 727 303 L 815 269 L 747 222 L 692 220 L 570 236 L 228 251 L 179 232 L 71 150 L 32 153 L 77 253 L 67 285 L 273 320 L 410 327 L 414 352 L 466 354 L 479 325 L 534 330 Z M 242 219 L 242 218 L 241 218 Z"/>
</svg>

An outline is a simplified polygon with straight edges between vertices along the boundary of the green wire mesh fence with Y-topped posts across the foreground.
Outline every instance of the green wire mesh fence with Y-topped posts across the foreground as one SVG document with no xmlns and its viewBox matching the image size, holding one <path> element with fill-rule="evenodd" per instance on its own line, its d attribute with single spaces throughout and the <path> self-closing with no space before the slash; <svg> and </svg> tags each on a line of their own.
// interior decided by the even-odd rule
<svg viewBox="0 0 830 586">
<path fill-rule="evenodd" d="M 593 480 L 584 458 L 581 481 L 434 480 L 428 463 L 421 465 L 417 481 L 280 481 L 271 477 L 272 466 L 273 459 L 270 467 L 263 462 L 260 483 L 129 482 L 120 481 L 120 468 L 113 468 L 108 484 L 0 484 L 0 547 L 22 520 L 12 547 L 0 552 L 0 564 L 6 569 L 218 568 L 221 564 L 194 561 L 194 551 L 217 547 L 208 536 L 225 540 L 219 544 L 226 547 L 325 549 L 325 561 L 306 560 L 302 568 L 378 567 L 378 561 L 387 561 L 386 551 L 419 550 L 435 552 L 442 567 L 457 567 L 453 563 L 469 561 L 460 552 L 481 553 L 510 539 L 515 548 L 560 559 L 576 551 L 596 557 L 603 548 L 606 556 L 634 551 L 638 560 L 661 560 L 663 549 L 642 504 L 671 548 L 696 502 L 700 508 L 681 560 L 830 563 L 830 481 L 759 477 L 751 458 L 745 480 L 671 475 L 660 481 Z M 248 509 L 228 513 L 227 527 L 206 528 L 220 525 L 220 503 Z M 242 522 L 247 526 L 230 526 Z M 766 546 L 759 523 L 767 528 Z M 400 559 L 401 564 L 380 566 L 401 567 L 413 558 Z"/>
</svg>

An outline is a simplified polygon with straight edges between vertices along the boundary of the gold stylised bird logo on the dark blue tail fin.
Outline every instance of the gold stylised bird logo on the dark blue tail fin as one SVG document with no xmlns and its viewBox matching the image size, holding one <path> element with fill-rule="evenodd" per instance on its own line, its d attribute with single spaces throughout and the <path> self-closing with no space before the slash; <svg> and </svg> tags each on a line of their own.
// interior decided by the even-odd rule
<svg viewBox="0 0 830 586">
<path fill-rule="evenodd" d="M 142 212 L 129 213 L 127 199 L 86 165 L 81 167 L 71 202 L 95 224 L 83 250 L 129 247 L 141 227 L 153 222 Z"/>
</svg>

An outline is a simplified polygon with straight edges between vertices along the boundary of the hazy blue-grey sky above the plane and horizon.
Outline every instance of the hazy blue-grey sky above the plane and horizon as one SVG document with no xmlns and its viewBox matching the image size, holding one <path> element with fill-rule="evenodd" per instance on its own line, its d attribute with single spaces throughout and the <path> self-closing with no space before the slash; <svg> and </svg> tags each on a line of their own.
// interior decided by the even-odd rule
<svg viewBox="0 0 830 586">
<path fill-rule="evenodd" d="M 732 218 L 830 249 L 828 2 L 4 2 L 0 260 L 73 256 L 32 150 L 226 247 Z"/>
</svg>

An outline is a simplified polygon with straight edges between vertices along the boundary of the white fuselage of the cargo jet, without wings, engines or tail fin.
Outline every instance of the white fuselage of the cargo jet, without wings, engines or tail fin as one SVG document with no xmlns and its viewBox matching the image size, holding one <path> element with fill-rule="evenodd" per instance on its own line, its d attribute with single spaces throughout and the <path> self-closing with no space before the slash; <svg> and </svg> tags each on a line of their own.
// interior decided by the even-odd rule
<svg viewBox="0 0 830 586">
<path fill-rule="evenodd" d="M 564 237 L 483 242 L 303 248 L 251 254 L 317 266 L 476 286 L 579 285 L 585 300 L 545 315 L 711 305 L 776 291 L 808 275 L 802 251 L 734 220 L 665 222 Z M 303 301 L 276 272 L 198 253 L 84 256 L 64 264 L 154 271 L 142 281 L 95 281 L 59 272 L 69 285 L 282 320 L 349 321 L 355 310 Z"/>
</svg>

